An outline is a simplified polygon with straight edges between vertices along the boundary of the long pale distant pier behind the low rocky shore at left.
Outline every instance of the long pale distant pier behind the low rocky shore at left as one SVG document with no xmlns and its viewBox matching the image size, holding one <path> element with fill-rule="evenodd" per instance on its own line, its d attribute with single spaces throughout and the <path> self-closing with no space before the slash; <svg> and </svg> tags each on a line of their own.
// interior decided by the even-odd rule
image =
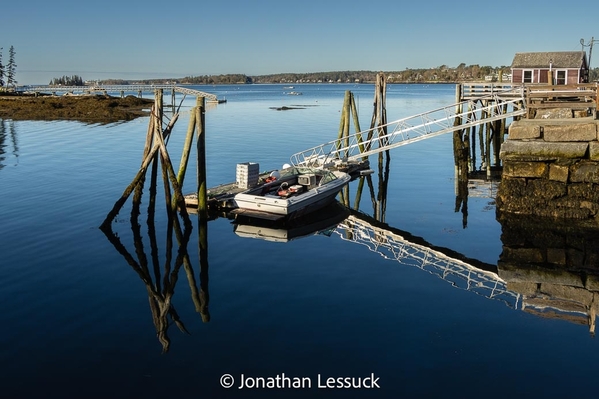
<svg viewBox="0 0 599 399">
<path fill-rule="evenodd" d="M 206 93 L 200 90 L 190 89 L 183 86 L 155 84 L 155 85 L 100 85 L 100 86 L 20 86 L 19 91 L 35 93 L 124 93 L 124 92 L 154 92 L 156 89 L 170 90 L 173 93 L 189 94 L 196 97 L 204 97 L 208 101 L 217 101 L 216 94 Z"/>
</svg>

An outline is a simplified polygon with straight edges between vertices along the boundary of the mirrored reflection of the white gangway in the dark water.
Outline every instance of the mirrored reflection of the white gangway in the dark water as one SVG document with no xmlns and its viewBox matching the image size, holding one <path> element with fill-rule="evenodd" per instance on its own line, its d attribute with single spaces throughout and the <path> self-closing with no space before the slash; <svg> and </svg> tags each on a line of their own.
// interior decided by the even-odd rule
<svg viewBox="0 0 599 399">
<path fill-rule="evenodd" d="M 378 227 L 352 213 L 334 232 L 343 240 L 364 245 L 385 259 L 415 266 L 445 281 L 488 299 L 518 309 L 521 294 L 510 291 L 497 273 L 472 266 L 441 251 L 408 241 L 401 234 Z"/>
</svg>

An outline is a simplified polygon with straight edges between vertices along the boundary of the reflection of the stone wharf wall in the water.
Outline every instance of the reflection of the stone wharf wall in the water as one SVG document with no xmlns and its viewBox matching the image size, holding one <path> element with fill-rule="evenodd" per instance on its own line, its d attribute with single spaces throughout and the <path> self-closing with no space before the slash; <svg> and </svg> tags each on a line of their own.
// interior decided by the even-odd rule
<svg viewBox="0 0 599 399">
<path fill-rule="evenodd" d="M 588 325 L 599 306 L 599 230 L 575 223 L 499 215 L 499 277 L 522 295 L 525 312 Z"/>
</svg>

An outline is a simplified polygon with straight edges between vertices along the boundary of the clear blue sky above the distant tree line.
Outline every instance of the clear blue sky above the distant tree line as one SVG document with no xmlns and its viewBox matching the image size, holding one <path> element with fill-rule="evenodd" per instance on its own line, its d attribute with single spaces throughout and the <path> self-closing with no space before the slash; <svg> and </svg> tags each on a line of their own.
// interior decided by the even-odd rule
<svg viewBox="0 0 599 399">
<path fill-rule="evenodd" d="M 516 52 L 580 50 L 581 38 L 599 39 L 597 10 L 588 4 L 7 1 L 0 47 L 6 64 L 14 46 L 19 84 L 74 74 L 92 80 L 502 66 Z"/>
</svg>

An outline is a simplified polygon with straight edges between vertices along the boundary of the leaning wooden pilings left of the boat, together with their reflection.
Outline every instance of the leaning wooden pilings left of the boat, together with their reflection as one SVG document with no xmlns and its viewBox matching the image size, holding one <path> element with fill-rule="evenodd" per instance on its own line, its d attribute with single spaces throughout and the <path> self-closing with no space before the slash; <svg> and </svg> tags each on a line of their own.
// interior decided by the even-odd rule
<svg viewBox="0 0 599 399">
<path fill-rule="evenodd" d="M 127 186 L 121 197 L 116 201 L 106 219 L 100 226 L 108 240 L 114 245 L 115 249 L 125 258 L 127 263 L 140 276 L 148 293 L 152 319 L 156 327 L 158 340 L 162 344 L 163 352 L 168 351 L 170 339 L 167 335 L 170 322 L 168 317 L 183 332 L 187 333 L 183 322 L 172 304 L 171 298 L 174 293 L 174 287 L 177 282 L 177 276 L 181 267 L 190 286 L 192 301 L 196 312 L 201 315 L 204 322 L 210 320 L 208 311 L 208 217 L 206 201 L 206 164 L 205 164 L 205 134 L 204 134 L 204 98 L 198 97 L 196 106 L 192 108 L 189 127 L 181 163 L 178 173 L 175 173 L 170 156 L 166 149 L 166 142 L 178 119 L 179 113 L 173 109 L 173 115 L 163 128 L 163 104 L 162 89 L 155 92 L 155 103 L 152 107 L 148 133 L 143 150 L 142 163 L 139 171 L 133 181 Z M 187 214 L 187 208 L 181 187 L 185 178 L 187 164 L 193 144 L 194 132 L 197 132 L 197 153 L 198 153 L 198 220 L 199 220 L 199 263 L 200 263 L 200 288 L 198 289 L 193 272 L 192 263 L 187 252 L 187 244 L 191 236 L 192 223 Z M 166 239 L 166 260 L 164 262 L 164 273 L 161 273 L 160 262 L 158 260 L 158 240 L 156 239 L 155 207 L 156 207 L 156 188 L 158 185 L 158 168 L 162 170 L 162 180 L 164 185 L 164 197 L 167 212 L 167 239 Z M 144 193 L 144 184 L 149 173 L 149 201 L 148 201 L 148 235 L 151 244 L 151 256 L 144 252 L 142 244 L 142 235 L 138 217 L 140 205 Z M 131 211 L 131 230 L 133 231 L 135 255 L 127 250 L 122 244 L 121 239 L 112 231 L 112 222 L 119 211 L 134 192 Z M 179 212 L 179 215 L 177 215 Z M 179 219 L 179 216 L 181 217 Z M 173 239 L 176 237 L 178 249 L 173 262 Z M 152 270 L 152 272 L 150 271 Z M 161 276 L 162 274 L 162 276 Z"/>
</svg>

